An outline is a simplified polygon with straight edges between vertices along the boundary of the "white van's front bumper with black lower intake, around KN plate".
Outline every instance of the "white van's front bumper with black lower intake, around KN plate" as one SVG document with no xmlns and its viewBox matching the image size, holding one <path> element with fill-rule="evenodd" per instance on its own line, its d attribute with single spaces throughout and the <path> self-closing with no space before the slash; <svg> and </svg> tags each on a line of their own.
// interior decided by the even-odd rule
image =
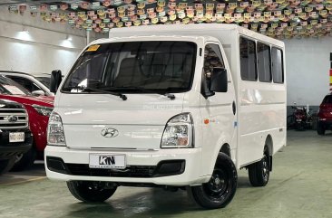
<svg viewBox="0 0 332 218">
<path fill-rule="evenodd" d="M 90 154 L 124 154 L 127 168 L 121 170 L 90 169 Z M 151 185 L 199 185 L 210 180 L 210 175 L 201 175 L 201 149 L 179 148 L 151 151 L 83 150 L 68 147 L 47 146 L 44 152 L 46 175 L 54 180 L 104 181 Z M 51 162 L 50 162 L 51 160 Z M 63 161 L 63 171 L 54 169 L 54 160 Z M 58 162 L 58 164 L 60 163 Z M 51 166 L 52 163 L 52 166 Z M 179 170 L 173 174 L 159 174 L 163 163 L 174 164 Z M 50 165 L 50 166 L 48 166 Z M 180 167 L 181 166 L 181 167 Z M 58 167 L 61 168 L 62 166 Z M 158 172 L 157 172 L 158 171 Z M 137 172 L 139 174 L 137 174 Z M 140 174 L 144 173 L 144 175 Z"/>
</svg>

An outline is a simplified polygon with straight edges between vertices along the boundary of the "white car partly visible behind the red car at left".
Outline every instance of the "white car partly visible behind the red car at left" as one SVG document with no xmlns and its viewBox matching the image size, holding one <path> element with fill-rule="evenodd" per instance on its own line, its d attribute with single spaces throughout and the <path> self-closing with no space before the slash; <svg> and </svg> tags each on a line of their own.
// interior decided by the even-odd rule
<svg viewBox="0 0 332 218">
<path fill-rule="evenodd" d="M 32 75 L 20 71 L 0 71 L 0 75 L 5 75 L 16 81 L 34 95 L 54 96 L 54 93 L 50 91 L 50 74 L 39 73 Z"/>
</svg>

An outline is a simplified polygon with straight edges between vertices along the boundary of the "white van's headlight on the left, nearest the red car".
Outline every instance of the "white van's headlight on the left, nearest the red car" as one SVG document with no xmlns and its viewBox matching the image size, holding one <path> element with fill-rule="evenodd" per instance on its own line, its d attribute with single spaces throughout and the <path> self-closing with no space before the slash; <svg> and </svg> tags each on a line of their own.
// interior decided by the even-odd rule
<svg viewBox="0 0 332 218">
<path fill-rule="evenodd" d="M 63 121 L 59 114 L 53 112 L 48 120 L 47 144 L 52 146 L 66 146 L 63 132 Z"/>
</svg>

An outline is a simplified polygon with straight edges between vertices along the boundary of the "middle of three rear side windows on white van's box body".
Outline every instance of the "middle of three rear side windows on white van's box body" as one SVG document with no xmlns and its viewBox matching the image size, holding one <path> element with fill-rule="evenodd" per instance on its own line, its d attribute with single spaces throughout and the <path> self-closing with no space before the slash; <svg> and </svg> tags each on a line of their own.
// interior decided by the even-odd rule
<svg viewBox="0 0 332 218">
<path fill-rule="evenodd" d="M 258 70 L 259 81 L 272 81 L 271 75 L 271 54 L 270 47 L 264 43 L 257 43 L 257 58 L 258 58 Z"/>
</svg>

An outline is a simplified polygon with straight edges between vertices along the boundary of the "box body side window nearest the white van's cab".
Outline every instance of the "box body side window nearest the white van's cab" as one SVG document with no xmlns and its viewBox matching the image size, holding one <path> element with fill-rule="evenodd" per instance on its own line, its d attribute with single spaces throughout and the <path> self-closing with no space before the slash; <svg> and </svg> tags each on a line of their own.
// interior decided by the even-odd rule
<svg viewBox="0 0 332 218">
<path fill-rule="evenodd" d="M 257 81 L 256 44 L 239 37 L 239 63 L 243 81 Z"/>
</svg>

